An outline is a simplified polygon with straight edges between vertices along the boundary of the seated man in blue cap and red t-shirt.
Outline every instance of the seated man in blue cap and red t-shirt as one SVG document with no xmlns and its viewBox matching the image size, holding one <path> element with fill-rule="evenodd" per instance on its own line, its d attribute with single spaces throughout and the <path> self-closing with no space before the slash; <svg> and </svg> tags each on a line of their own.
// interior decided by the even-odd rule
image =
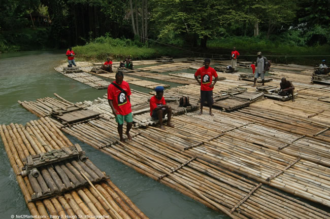
<svg viewBox="0 0 330 219">
<path fill-rule="evenodd" d="M 157 86 L 155 91 L 156 95 L 150 98 L 150 116 L 153 119 L 158 119 L 160 128 L 164 130 L 165 127 L 162 125 L 162 119 L 167 114 L 167 126 L 174 128 L 174 125 L 171 123 L 172 108 L 171 106 L 166 105 L 165 99 L 163 97 L 164 88 L 162 86 Z"/>
</svg>

